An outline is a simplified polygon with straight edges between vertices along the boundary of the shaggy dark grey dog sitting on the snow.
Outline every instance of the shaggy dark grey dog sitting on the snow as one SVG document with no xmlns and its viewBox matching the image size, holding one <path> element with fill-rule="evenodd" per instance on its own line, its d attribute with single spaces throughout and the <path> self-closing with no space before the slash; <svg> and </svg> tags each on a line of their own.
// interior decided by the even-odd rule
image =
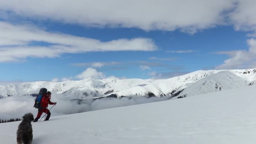
<svg viewBox="0 0 256 144">
<path fill-rule="evenodd" d="M 31 144 L 33 139 L 33 130 L 31 122 L 34 120 L 32 113 L 23 116 L 22 122 L 17 130 L 17 144 Z"/>
</svg>

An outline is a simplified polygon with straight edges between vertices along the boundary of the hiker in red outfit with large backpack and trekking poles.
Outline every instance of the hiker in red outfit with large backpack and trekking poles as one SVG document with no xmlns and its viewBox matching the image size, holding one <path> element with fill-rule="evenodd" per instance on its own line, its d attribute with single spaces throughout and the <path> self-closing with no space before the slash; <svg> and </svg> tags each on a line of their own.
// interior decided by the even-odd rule
<svg viewBox="0 0 256 144">
<path fill-rule="evenodd" d="M 38 119 L 41 117 L 41 115 L 44 113 L 47 114 L 46 118 L 45 118 L 45 121 L 46 120 L 49 120 L 50 116 L 51 116 L 51 112 L 49 111 L 48 108 L 48 104 L 54 104 L 56 105 L 57 103 L 56 102 L 51 102 L 51 92 L 48 91 L 46 94 L 43 95 L 43 98 L 41 100 L 41 103 L 40 103 L 40 107 L 38 108 L 38 114 L 37 114 L 37 117 L 35 118 L 34 122 L 37 122 Z"/>
</svg>

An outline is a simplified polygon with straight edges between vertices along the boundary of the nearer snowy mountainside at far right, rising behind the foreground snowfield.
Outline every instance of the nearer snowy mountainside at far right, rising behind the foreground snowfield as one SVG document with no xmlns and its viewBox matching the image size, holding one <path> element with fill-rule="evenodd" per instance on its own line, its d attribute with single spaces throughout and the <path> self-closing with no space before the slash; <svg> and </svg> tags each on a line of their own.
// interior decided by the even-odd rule
<svg viewBox="0 0 256 144">
<path fill-rule="evenodd" d="M 240 88 L 246 85 L 253 85 L 256 80 L 256 70 L 223 70 L 215 75 L 205 77 L 185 88 L 179 96 L 194 96 L 203 93 Z"/>
</svg>

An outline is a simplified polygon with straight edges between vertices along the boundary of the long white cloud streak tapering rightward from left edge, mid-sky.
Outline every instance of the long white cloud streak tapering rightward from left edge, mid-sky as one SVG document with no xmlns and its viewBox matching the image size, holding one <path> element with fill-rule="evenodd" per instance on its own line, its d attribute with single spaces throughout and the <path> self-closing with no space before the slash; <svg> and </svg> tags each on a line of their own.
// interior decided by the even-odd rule
<svg viewBox="0 0 256 144">
<path fill-rule="evenodd" d="M 46 32 L 30 25 L 14 25 L 0 21 L 0 62 L 27 57 L 58 57 L 63 53 L 89 51 L 155 51 L 157 46 L 147 38 L 118 39 L 101 42 L 96 39 Z M 29 46 L 34 41 L 50 46 Z"/>
</svg>

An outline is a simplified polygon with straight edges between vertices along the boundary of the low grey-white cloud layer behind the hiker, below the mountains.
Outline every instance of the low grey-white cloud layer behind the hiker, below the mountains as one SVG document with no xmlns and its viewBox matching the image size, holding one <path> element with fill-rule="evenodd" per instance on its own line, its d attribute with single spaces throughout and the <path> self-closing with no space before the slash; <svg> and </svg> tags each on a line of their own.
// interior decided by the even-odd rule
<svg viewBox="0 0 256 144">
<path fill-rule="evenodd" d="M 35 97 L 30 96 L 12 96 L 0 99 L 0 119 L 21 118 L 25 113 L 32 112 L 34 117 L 37 115 L 37 109 L 34 106 Z M 134 104 L 144 104 L 149 102 L 164 101 L 168 98 L 104 98 L 93 101 L 88 98 L 82 101 L 82 104 L 77 104 L 77 101 L 63 100 L 63 95 L 53 94 L 52 102 L 57 102 L 56 106 L 51 109 L 52 116 L 68 115 L 79 112 L 88 112 L 99 109 L 108 109 L 113 107 L 123 107 Z M 49 105 L 49 109 L 52 105 Z M 43 117 L 43 115 L 42 115 Z"/>
</svg>

